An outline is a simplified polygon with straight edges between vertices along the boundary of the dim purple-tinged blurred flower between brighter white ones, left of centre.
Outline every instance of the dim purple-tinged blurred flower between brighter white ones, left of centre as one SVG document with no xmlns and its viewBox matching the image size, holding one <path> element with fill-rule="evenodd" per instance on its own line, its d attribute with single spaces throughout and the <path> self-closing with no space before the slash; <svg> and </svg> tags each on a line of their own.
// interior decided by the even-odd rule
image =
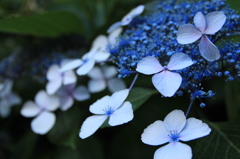
<svg viewBox="0 0 240 159">
<path fill-rule="evenodd" d="M 90 98 L 90 94 L 85 86 L 78 86 L 76 84 L 69 84 L 61 87 L 56 95 L 60 97 L 60 109 L 62 111 L 68 110 L 77 101 L 84 101 Z"/>
</svg>

